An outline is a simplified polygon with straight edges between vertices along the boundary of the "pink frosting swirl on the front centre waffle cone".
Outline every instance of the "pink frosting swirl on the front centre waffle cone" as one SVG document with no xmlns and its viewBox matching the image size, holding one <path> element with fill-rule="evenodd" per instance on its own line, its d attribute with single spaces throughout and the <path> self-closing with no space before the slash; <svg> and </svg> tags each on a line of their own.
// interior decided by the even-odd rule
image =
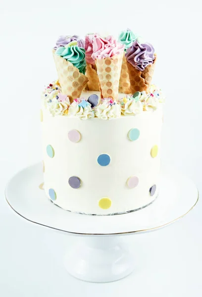
<svg viewBox="0 0 202 297">
<path fill-rule="evenodd" d="M 125 46 L 117 42 L 112 36 L 107 36 L 105 39 L 96 35 L 93 40 L 94 60 L 101 58 L 110 58 L 124 51 Z"/>
</svg>

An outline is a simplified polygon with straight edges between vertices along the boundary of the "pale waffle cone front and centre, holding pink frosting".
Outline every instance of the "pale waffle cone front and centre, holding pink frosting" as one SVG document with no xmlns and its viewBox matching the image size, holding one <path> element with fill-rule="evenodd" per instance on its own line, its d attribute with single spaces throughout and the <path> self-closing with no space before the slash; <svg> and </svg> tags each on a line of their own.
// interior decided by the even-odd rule
<svg viewBox="0 0 202 297">
<path fill-rule="evenodd" d="M 96 59 L 101 98 L 118 99 L 118 85 L 122 59 L 123 53 L 114 55 L 110 58 Z"/>
</svg>

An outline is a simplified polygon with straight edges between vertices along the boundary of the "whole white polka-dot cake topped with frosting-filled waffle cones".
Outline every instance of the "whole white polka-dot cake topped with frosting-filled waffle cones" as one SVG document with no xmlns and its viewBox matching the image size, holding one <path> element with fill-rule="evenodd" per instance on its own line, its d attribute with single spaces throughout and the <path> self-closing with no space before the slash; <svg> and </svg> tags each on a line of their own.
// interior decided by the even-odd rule
<svg viewBox="0 0 202 297">
<path fill-rule="evenodd" d="M 58 79 L 42 94 L 44 190 L 64 210 L 123 214 L 158 196 L 164 96 L 156 53 L 127 29 L 60 36 Z"/>
</svg>

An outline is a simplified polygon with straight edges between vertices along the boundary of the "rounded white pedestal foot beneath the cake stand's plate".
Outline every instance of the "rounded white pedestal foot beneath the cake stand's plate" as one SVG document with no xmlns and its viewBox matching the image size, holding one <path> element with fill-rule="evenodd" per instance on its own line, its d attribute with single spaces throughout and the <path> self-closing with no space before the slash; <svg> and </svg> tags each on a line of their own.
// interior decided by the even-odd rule
<svg viewBox="0 0 202 297">
<path fill-rule="evenodd" d="M 117 236 L 82 238 L 66 253 L 64 265 L 72 276 L 93 283 L 117 281 L 135 268 L 127 245 Z"/>
</svg>

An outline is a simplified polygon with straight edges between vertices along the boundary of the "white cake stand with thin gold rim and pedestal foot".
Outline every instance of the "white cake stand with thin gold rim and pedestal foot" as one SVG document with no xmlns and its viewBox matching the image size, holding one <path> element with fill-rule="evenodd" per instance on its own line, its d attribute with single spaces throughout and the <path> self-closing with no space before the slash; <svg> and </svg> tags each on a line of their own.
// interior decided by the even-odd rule
<svg viewBox="0 0 202 297">
<path fill-rule="evenodd" d="M 55 206 L 43 191 L 41 164 L 16 174 L 5 197 L 21 217 L 67 235 L 80 235 L 80 243 L 67 251 L 64 264 L 74 277 L 88 282 L 112 282 L 129 275 L 134 261 L 123 235 L 157 230 L 186 215 L 199 199 L 191 180 L 163 167 L 159 197 L 148 207 L 127 214 L 90 216 Z"/>
</svg>

